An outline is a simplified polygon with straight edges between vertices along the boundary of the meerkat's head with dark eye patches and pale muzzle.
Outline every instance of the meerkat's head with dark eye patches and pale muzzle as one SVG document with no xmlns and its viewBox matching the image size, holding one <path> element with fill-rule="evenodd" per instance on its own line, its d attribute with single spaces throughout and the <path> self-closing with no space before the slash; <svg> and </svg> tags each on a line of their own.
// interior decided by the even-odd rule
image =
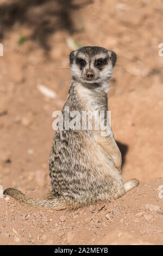
<svg viewBox="0 0 163 256">
<path fill-rule="evenodd" d="M 103 47 L 86 46 L 70 54 L 72 78 L 82 84 L 103 86 L 111 78 L 115 63 L 115 52 Z"/>
</svg>

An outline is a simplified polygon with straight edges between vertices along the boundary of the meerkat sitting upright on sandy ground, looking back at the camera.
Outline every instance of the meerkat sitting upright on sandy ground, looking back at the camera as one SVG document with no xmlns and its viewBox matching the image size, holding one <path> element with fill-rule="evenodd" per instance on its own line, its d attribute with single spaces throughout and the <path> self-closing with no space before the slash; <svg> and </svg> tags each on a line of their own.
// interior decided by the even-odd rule
<svg viewBox="0 0 163 256">
<path fill-rule="evenodd" d="M 108 110 L 109 80 L 116 63 L 116 54 L 103 47 L 86 46 L 70 54 L 72 84 L 62 109 L 70 111 Z M 138 186 L 137 179 L 123 183 L 122 157 L 112 130 L 106 136 L 100 129 L 58 129 L 49 156 L 52 190 L 46 199 L 33 199 L 14 188 L 8 194 L 23 205 L 54 210 L 78 209 L 109 202 L 122 197 Z"/>
</svg>

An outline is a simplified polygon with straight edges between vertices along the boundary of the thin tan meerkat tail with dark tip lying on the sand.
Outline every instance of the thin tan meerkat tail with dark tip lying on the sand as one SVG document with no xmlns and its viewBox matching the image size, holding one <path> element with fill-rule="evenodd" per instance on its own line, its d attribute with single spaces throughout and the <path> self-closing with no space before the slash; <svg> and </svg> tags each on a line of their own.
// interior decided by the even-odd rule
<svg viewBox="0 0 163 256">
<path fill-rule="evenodd" d="M 54 197 L 54 199 L 34 199 L 23 194 L 20 190 L 15 188 L 7 188 L 3 194 L 10 195 L 21 205 L 31 205 L 35 207 L 53 208 L 54 210 L 67 209 L 66 201 L 61 198 Z"/>
</svg>

